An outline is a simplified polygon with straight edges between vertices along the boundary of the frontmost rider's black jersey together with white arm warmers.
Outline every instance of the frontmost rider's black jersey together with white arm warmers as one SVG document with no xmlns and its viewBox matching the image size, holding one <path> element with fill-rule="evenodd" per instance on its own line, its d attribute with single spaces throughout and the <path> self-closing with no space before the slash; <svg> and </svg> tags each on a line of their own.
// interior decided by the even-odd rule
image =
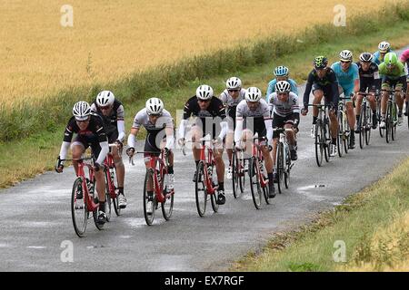
<svg viewBox="0 0 409 290">
<path fill-rule="evenodd" d="M 92 113 L 90 115 L 88 127 L 82 131 L 78 127 L 75 117 L 71 117 L 65 128 L 63 145 L 60 150 L 60 159 L 62 160 L 65 159 L 74 133 L 77 134 L 77 136 L 75 137 L 73 145 L 76 143 L 82 145 L 85 150 L 91 146 L 94 156 L 97 157 L 96 162 L 102 164 L 109 151 L 104 121 L 102 118 L 99 115 Z"/>
</svg>

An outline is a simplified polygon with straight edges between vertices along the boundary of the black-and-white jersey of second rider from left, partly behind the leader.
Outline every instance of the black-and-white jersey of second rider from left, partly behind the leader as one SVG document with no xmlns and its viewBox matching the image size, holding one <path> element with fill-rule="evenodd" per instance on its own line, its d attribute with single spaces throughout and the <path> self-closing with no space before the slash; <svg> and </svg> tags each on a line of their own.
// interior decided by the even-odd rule
<svg viewBox="0 0 409 290">
<path fill-rule="evenodd" d="M 109 116 L 105 116 L 101 109 L 96 104 L 96 100 L 91 104 L 91 110 L 98 113 L 104 121 L 106 135 L 109 142 L 115 140 L 123 141 L 125 137 L 125 111 L 121 102 L 115 99 L 113 109 Z"/>
</svg>

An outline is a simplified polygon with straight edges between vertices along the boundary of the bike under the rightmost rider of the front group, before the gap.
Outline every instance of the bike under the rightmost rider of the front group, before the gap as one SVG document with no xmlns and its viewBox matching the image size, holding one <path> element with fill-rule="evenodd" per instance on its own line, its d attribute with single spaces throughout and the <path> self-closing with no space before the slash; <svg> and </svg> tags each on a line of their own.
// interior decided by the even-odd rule
<svg viewBox="0 0 409 290">
<path fill-rule="evenodd" d="M 294 132 L 293 129 L 276 128 L 273 131 L 277 131 L 280 134 L 277 142 L 277 154 L 275 159 L 275 168 L 277 172 L 277 184 L 278 192 L 282 193 L 284 186 L 288 189 L 290 184 L 290 171 L 294 166 L 291 160 L 290 147 L 287 142 L 285 132 Z"/>
</svg>

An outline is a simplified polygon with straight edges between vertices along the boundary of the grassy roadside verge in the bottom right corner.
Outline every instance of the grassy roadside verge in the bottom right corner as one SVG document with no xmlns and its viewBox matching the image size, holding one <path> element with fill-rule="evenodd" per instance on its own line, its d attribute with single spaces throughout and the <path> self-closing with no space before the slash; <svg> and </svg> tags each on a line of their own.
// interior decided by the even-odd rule
<svg viewBox="0 0 409 290">
<path fill-rule="evenodd" d="M 403 271 L 409 268 L 409 159 L 311 225 L 275 236 L 233 271 Z M 339 241 L 345 262 L 338 261 Z"/>
</svg>

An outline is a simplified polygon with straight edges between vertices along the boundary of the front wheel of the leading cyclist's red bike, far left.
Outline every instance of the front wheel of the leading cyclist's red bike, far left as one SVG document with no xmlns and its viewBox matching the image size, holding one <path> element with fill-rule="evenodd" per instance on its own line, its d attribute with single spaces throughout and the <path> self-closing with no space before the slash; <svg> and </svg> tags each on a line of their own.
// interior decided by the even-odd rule
<svg viewBox="0 0 409 290">
<path fill-rule="evenodd" d="M 71 195 L 71 216 L 73 218 L 75 234 L 78 237 L 84 237 L 89 212 L 88 208 L 86 208 L 85 192 L 81 178 L 77 178 L 74 181 Z"/>
</svg>

